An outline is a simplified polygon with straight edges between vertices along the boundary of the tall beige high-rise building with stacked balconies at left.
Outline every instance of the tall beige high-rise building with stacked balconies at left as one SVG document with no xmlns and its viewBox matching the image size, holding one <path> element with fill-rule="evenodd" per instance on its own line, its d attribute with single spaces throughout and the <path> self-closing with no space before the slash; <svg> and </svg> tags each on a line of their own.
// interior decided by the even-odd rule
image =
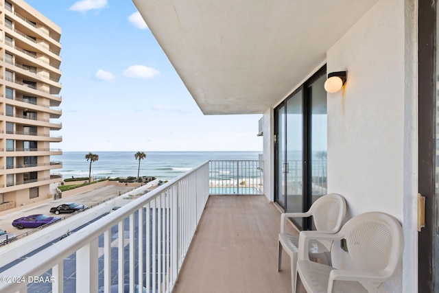
<svg viewBox="0 0 439 293">
<path fill-rule="evenodd" d="M 60 106 L 61 29 L 21 0 L 0 0 L 0 208 L 51 196 Z M 4 204 L 9 202 L 9 204 Z"/>
</svg>

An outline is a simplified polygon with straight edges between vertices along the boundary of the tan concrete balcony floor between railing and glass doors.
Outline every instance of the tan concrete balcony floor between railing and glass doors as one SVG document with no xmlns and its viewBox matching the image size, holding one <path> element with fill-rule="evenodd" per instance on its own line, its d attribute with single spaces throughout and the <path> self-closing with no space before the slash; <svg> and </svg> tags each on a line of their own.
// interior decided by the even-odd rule
<svg viewBox="0 0 439 293">
<path fill-rule="evenodd" d="M 292 292 L 287 253 L 277 270 L 280 221 L 265 196 L 210 196 L 173 292 Z"/>
</svg>

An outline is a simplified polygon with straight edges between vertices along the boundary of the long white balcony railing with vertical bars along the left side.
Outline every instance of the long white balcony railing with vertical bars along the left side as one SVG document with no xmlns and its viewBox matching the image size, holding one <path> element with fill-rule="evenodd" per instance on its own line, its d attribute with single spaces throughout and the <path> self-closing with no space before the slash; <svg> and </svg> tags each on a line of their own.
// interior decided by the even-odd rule
<svg viewBox="0 0 439 293">
<path fill-rule="evenodd" d="M 4 270 L 0 292 L 27 292 L 35 281 L 52 292 L 110 292 L 114 279 L 119 292 L 171 292 L 208 197 L 206 162 Z M 75 268 L 75 283 L 64 268 Z"/>
</svg>

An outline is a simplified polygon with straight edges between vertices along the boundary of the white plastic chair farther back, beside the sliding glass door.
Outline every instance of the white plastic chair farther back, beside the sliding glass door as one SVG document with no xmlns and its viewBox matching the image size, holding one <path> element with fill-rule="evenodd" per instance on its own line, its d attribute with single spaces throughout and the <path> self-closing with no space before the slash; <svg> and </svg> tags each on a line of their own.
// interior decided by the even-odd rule
<svg viewBox="0 0 439 293">
<path fill-rule="evenodd" d="M 308 218 L 312 215 L 314 226 L 320 233 L 336 233 L 340 230 L 346 215 L 346 201 L 340 194 L 327 194 L 314 202 L 306 213 L 283 213 L 281 215 L 281 233 L 278 245 L 278 271 L 281 271 L 282 248 L 291 259 L 291 283 L 294 292 L 296 279 L 296 261 L 299 235 L 285 233 L 288 218 Z M 318 241 L 311 242 L 308 248 L 311 257 L 322 263 L 331 264 L 329 250 Z"/>
</svg>

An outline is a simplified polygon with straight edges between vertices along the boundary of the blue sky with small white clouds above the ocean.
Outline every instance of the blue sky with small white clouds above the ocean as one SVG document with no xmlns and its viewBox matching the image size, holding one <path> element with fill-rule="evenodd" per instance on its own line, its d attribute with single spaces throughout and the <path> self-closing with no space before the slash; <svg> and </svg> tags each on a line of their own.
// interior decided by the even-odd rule
<svg viewBox="0 0 439 293">
<path fill-rule="evenodd" d="M 51 148 L 262 150 L 262 115 L 203 115 L 131 0 L 27 3 L 62 29 L 63 141 Z"/>
</svg>

